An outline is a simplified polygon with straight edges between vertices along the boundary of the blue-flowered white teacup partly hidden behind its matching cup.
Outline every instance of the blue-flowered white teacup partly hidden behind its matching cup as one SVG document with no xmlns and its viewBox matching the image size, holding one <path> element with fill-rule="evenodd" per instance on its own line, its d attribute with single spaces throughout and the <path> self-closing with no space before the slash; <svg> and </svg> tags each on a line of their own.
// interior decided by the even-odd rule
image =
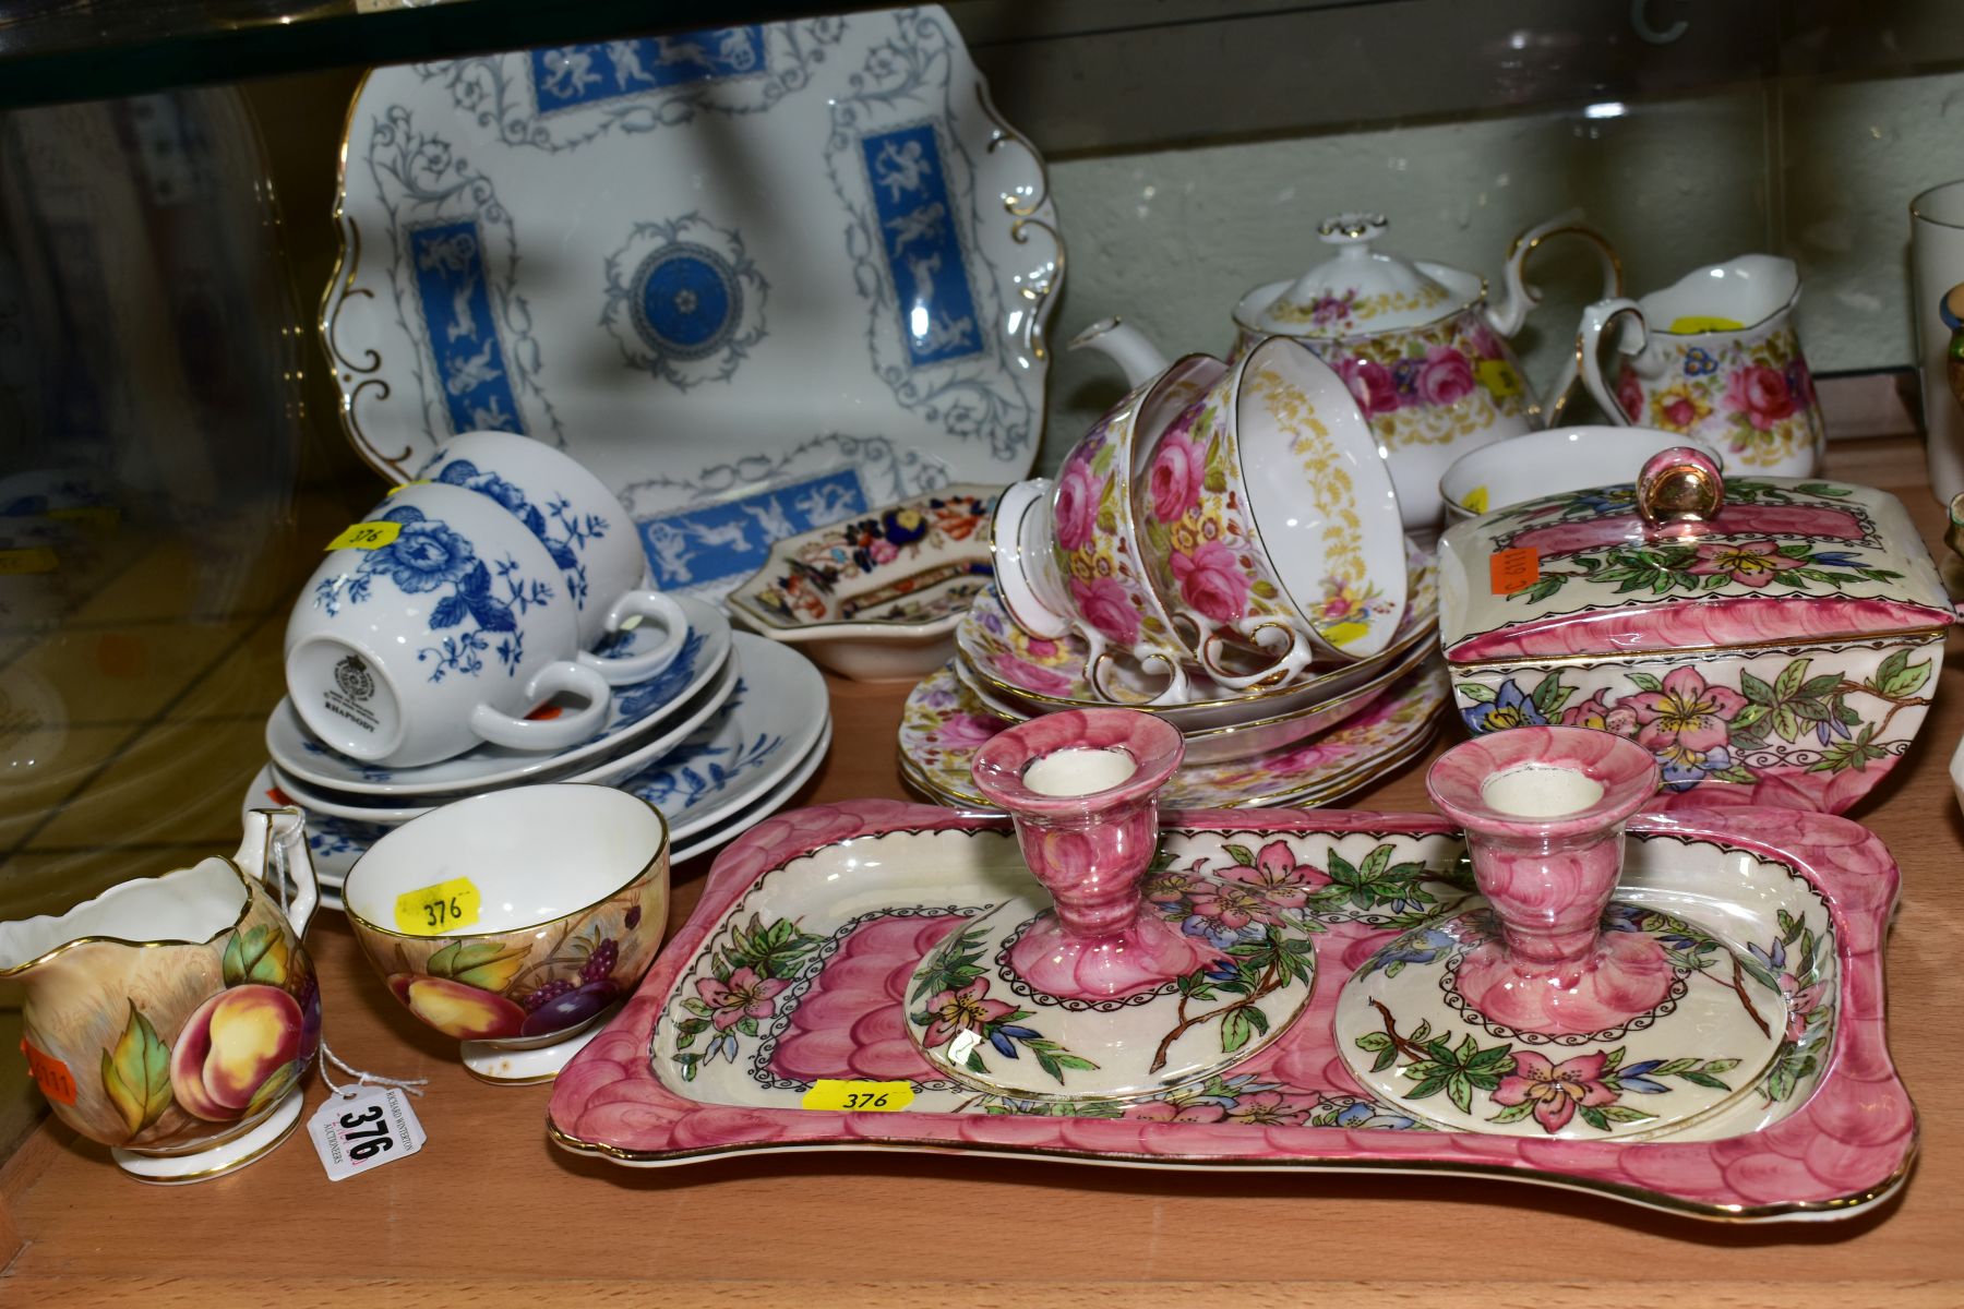
<svg viewBox="0 0 1964 1309">
<path fill-rule="evenodd" d="M 522 522 L 560 567 L 579 618 L 577 659 L 621 687 L 674 663 L 689 636 L 682 606 L 648 587 L 648 555 L 621 498 L 583 463 L 528 436 L 465 432 L 444 442 L 416 481 L 491 497 Z M 593 646 L 628 618 L 654 618 L 662 640 L 601 659 Z"/>
</svg>

